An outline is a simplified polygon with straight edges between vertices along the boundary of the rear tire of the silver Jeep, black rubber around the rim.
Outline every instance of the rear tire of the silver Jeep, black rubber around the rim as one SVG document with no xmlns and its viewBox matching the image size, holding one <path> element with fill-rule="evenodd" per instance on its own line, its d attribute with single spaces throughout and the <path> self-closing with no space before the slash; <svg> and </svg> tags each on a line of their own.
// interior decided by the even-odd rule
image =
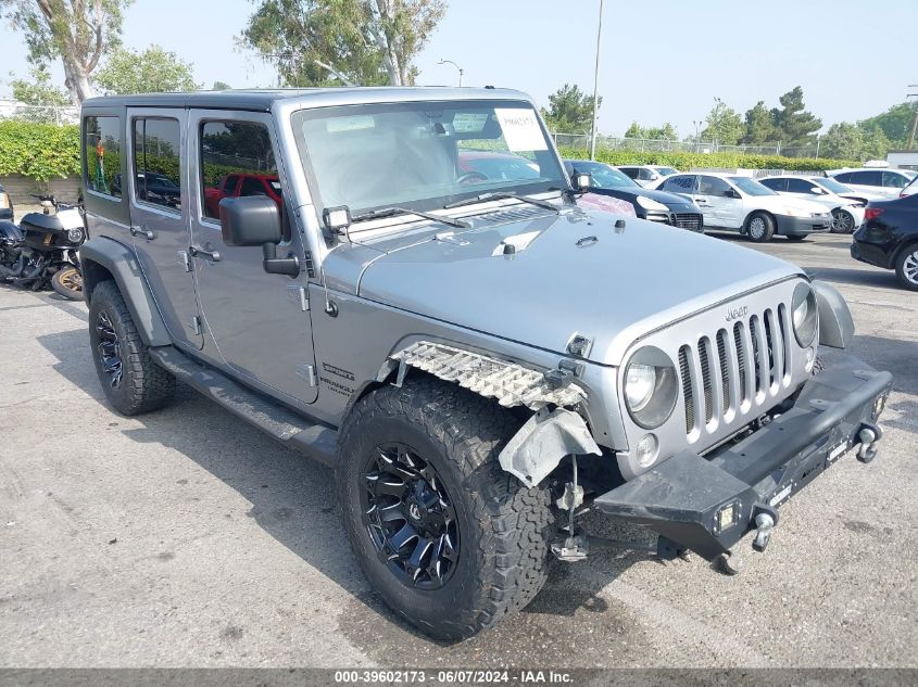
<svg viewBox="0 0 918 687">
<path fill-rule="evenodd" d="M 118 338 L 122 379 L 113 386 L 105 374 L 99 355 L 100 334 L 97 329 L 100 314 L 105 314 Z M 175 377 L 150 358 L 140 340 L 130 310 L 114 281 L 106 280 L 92 290 L 89 305 L 89 342 L 99 382 L 109 403 L 122 415 L 149 412 L 165 406 L 175 394 Z"/>
</svg>

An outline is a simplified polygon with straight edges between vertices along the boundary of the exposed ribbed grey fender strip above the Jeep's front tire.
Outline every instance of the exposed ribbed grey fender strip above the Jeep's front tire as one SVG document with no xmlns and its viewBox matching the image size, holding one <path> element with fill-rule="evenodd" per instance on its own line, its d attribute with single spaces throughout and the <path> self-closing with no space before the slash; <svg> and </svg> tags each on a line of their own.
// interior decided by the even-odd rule
<svg viewBox="0 0 918 687">
<path fill-rule="evenodd" d="M 587 397 L 577 384 L 555 387 L 538 370 L 444 344 L 419 341 L 391 357 L 481 396 L 495 398 L 508 408 L 526 406 L 539 410 L 550 404 L 570 407 Z"/>
</svg>

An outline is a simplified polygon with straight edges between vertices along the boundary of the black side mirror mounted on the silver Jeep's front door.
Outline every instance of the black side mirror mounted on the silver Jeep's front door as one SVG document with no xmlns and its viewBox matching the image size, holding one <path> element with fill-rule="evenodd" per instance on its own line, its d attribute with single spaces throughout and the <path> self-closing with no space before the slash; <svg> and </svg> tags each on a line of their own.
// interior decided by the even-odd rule
<svg viewBox="0 0 918 687">
<path fill-rule="evenodd" d="M 265 195 L 225 198 L 219 202 L 219 228 L 228 246 L 261 245 L 264 270 L 271 275 L 300 273 L 300 260 L 292 253 L 277 257 L 277 244 L 284 239 L 277 203 Z"/>
</svg>

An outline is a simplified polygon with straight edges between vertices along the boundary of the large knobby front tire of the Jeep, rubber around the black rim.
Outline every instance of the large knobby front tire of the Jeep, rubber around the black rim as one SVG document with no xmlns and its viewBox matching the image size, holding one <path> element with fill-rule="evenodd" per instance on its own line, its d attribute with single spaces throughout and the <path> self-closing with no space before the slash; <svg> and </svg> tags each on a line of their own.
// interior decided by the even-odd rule
<svg viewBox="0 0 918 687">
<path fill-rule="evenodd" d="M 458 386 L 418 377 L 362 398 L 341 428 L 337 482 L 344 526 L 364 574 L 395 613 L 437 639 L 455 640 L 524 608 L 548 574 L 554 518 L 548 489 L 504 472 L 498 454 L 521 421 Z M 364 466 L 387 442 L 432 465 L 458 523 L 458 557 L 439 589 L 410 586 L 378 557 L 363 521 Z"/>
</svg>

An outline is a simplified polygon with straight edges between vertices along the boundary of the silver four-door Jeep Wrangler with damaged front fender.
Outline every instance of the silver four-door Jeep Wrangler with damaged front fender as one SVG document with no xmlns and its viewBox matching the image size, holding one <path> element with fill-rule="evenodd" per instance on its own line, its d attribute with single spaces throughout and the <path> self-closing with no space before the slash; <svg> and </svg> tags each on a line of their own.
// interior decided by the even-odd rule
<svg viewBox="0 0 918 687">
<path fill-rule="evenodd" d="M 366 576 L 435 637 L 587 556 L 587 510 L 729 568 L 842 454 L 876 455 L 890 374 L 817 356 L 853 335 L 839 293 L 578 207 L 589 179 L 523 93 L 133 96 L 81 117 L 111 405 L 154 410 L 178 380 L 334 467 Z"/>
</svg>

